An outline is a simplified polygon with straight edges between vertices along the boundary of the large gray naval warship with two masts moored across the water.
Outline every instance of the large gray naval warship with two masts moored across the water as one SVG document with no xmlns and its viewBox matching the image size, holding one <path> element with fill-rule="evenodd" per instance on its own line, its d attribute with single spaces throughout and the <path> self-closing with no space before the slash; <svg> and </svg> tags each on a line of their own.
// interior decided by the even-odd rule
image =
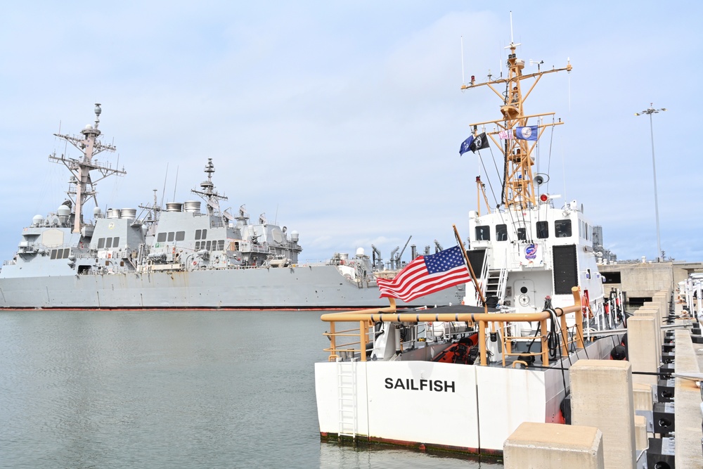
<svg viewBox="0 0 703 469">
<path fill-rule="evenodd" d="M 349 309 L 387 306 L 375 278 L 377 262 L 363 249 L 328 262 L 299 264 L 299 233 L 250 222 L 245 207 L 221 210 L 212 159 L 195 195 L 205 201 L 108 209 L 95 184 L 124 170 L 93 160 L 115 151 L 98 137 L 96 119 L 80 136 L 54 134 L 82 155 L 49 155 L 70 171 L 68 198 L 22 230 L 13 259 L 0 269 L 4 309 Z M 93 218 L 86 207 L 94 204 Z M 384 273 L 383 275 L 388 275 Z M 392 274 L 391 274 L 392 275 Z M 413 306 L 457 304 L 464 285 L 415 300 Z"/>
</svg>

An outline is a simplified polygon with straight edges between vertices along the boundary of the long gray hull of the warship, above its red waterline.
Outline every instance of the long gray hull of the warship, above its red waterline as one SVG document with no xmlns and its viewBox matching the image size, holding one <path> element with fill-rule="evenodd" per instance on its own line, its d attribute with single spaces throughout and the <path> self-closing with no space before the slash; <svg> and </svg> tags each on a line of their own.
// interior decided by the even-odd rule
<svg viewBox="0 0 703 469">
<path fill-rule="evenodd" d="M 413 305 L 458 304 L 463 285 Z M 338 309 L 384 307 L 375 286 L 335 266 L 160 271 L 0 279 L 4 309 Z"/>
</svg>

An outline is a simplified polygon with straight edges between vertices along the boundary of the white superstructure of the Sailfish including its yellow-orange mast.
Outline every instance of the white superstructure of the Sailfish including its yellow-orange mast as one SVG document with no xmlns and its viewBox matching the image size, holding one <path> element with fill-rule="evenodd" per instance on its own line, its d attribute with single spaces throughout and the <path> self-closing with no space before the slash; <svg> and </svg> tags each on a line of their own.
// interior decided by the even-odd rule
<svg viewBox="0 0 703 469">
<path fill-rule="evenodd" d="M 470 124 L 474 138 L 489 138 L 503 157 L 497 158 L 498 165 L 503 162 L 502 168 L 498 166 L 501 202 L 484 214 L 480 212 L 484 186 L 477 178 L 479 210 L 469 214 L 470 262 L 492 306 L 531 313 L 572 304 L 575 285 L 582 290 L 589 314 L 598 317 L 603 312 L 603 287 L 593 250 L 593 225 L 576 200 L 564 202 L 559 195 L 541 191 L 549 176 L 534 171 L 541 136 L 562 121 L 555 120 L 555 113 L 529 114 L 524 108 L 544 75 L 570 72 L 572 66 L 525 74 L 524 60 L 517 58 L 519 45 L 511 42 L 506 48 L 507 77 L 489 75 L 480 83 L 472 77 L 462 86 L 487 86 L 501 100 L 501 118 Z M 486 126 L 494 129 L 485 130 Z M 479 128 L 484 129 L 482 134 Z M 484 200 L 488 205 L 485 195 Z M 477 304 L 479 297 L 470 287 L 466 302 Z"/>
</svg>

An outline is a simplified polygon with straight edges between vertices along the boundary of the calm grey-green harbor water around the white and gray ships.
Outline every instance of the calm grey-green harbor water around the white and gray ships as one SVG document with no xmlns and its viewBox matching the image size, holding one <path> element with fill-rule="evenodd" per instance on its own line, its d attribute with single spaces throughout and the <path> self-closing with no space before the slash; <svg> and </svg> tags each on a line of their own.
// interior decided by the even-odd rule
<svg viewBox="0 0 703 469">
<path fill-rule="evenodd" d="M 0 311 L 0 468 L 499 467 L 321 443 L 319 317 Z"/>
</svg>

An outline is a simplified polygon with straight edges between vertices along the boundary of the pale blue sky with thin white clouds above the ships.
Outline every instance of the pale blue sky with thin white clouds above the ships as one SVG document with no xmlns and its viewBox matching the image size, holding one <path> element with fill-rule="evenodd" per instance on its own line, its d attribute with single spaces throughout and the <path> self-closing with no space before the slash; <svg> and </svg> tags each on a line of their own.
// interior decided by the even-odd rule
<svg viewBox="0 0 703 469">
<path fill-rule="evenodd" d="M 544 191 L 577 200 L 618 259 L 662 250 L 703 261 L 697 85 L 703 4 L 690 1 L 12 2 L 0 15 L 0 259 L 65 200 L 79 134 L 101 103 L 107 208 L 197 200 L 212 158 L 224 207 L 299 232 L 301 261 L 371 246 L 422 252 L 468 237 L 475 177 L 498 192 L 494 149 L 459 156 L 469 124 L 496 120 L 482 82 L 519 42 L 545 75 L 527 113 L 565 125 L 539 143 Z M 695 80 L 694 80 L 695 81 Z M 688 99 L 688 101 L 686 101 Z M 693 100 L 693 103 L 696 103 Z M 489 131 L 492 129 L 488 129 Z M 483 161 L 483 165 L 482 162 Z M 487 174 L 484 174 L 483 167 Z M 494 204 L 491 187 L 489 199 Z M 497 194 L 496 194 L 497 195 Z M 434 249 L 432 250 L 434 252 Z"/>
</svg>

